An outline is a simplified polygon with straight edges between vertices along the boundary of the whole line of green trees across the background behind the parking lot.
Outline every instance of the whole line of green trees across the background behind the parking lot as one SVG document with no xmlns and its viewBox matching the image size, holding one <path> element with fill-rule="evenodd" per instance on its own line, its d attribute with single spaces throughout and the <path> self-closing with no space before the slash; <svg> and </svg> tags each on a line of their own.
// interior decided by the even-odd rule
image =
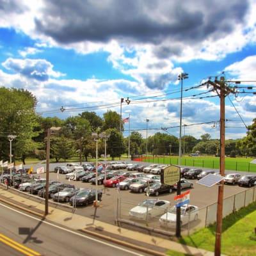
<svg viewBox="0 0 256 256">
<path fill-rule="evenodd" d="M 13 160 L 19 159 L 24 164 L 26 158 L 46 157 L 47 129 L 52 126 L 61 127 L 58 134 L 51 136 L 51 158 L 56 161 L 74 156 L 95 157 L 95 141 L 92 132 L 108 134 L 107 153 L 114 159 L 128 154 L 128 140 L 124 138 L 121 116 L 108 110 L 103 116 L 95 112 L 84 111 L 77 116 L 65 120 L 58 117 L 43 117 L 36 113 L 36 97 L 28 90 L 0 88 L 0 160 L 7 161 L 10 157 L 8 135 L 17 136 L 12 141 Z M 104 140 L 99 140 L 99 155 L 104 154 Z M 226 154 L 230 156 L 256 156 L 256 118 L 248 127 L 242 139 L 227 140 Z M 146 152 L 147 151 L 147 152 Z M 178 154 L 179 139 L 173 135 L 157 132 L 146 141 L 140 132 L 132 131 L 130 135 L 130 154 L 170 155 Z M 182 137 L 182 153 L 217 155 L 220 152 L 220 141 L 212 140 L 209 134 L 202 134 L 200 139 L 193 136 Z"/>
</svg>

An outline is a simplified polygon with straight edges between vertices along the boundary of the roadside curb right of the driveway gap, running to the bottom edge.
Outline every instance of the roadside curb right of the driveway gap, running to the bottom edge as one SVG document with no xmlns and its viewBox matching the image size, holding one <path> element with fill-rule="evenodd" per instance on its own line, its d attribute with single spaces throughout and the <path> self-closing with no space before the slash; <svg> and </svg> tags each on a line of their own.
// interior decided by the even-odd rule
<svg viewBox="0 0 256 256">
<path fill-rule="evenodd" d="M 141 246 L 138 246 L 138 245 L 135 245 L 135 244 L 131 244 L 131 243 L 127 243 L 125 241 L 121 241 L 121 240 L 118 240 L 116 238 L 113 238 L 113 237 L 109 237 L 109 236 L 104 236 L 102 234 L 98 234 L 96 232 L 92 232 L 92 231 L 89 231 L 89 230 L 85 230 L 85 229 L 79 229 L 79 231 L 81 232 L 84 232 L 88 235 L 91 235 L 91 236 L 96 236 L 98 238 L 101 238 L 101 239 L 104 239 L 104 240 L 108 240 L 112 243 L 116 243 L 116 244 L 119 244 L 119 245 L 122 245 L 122 246 L 125 246 L 125 247 L 128 247 L 128 248 L 132 248 L 132 249 L 135 249 L 135 250 L 138 250 L 138 251 L 141 251 L 141 252 L 145 252 L 145 253 L 148 253 L 148 254 L 151 254 L 151 255 L 155 255 L 155 256 L 166 256 L 165 253 L 161 253 L 161 252 L 156 252 L 154 250 L 151 250 L 151 249 L 147 249 L 147 248 L 144 248 L 144 247 L 141 247 Z M 168 249 L 166 249 L 167 251 Z"/>
</svg>

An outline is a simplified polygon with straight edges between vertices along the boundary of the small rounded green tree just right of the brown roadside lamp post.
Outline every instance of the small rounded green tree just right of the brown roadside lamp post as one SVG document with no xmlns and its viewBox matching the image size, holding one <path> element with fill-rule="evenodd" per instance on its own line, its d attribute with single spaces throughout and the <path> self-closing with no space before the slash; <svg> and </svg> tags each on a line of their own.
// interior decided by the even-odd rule
<svg viewBox="0 0 256 256">
<path fill-rule="evenodd" d="M 76 150 L 74 149 L 74 141 L 65 138 L 64 136 L 55 138 L 54 143 L 51 143 L 52 157 L 58 162 L 60 158 L 66 161 L 68 158 L 74 156 Z"/>
</svg>

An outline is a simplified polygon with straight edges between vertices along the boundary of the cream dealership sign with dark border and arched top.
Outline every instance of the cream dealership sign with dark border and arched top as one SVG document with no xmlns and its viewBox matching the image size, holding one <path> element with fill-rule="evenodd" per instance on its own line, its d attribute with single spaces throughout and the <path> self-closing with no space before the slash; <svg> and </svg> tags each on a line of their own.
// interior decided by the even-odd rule
<svg viewBox="0 0 256 256">
<path fill-rule="evenodd" d="M 161 170 L 161 183 L 172 186 L 180 180 L 180 167 L 176 165 L 166 166 Z"/>
</svg>

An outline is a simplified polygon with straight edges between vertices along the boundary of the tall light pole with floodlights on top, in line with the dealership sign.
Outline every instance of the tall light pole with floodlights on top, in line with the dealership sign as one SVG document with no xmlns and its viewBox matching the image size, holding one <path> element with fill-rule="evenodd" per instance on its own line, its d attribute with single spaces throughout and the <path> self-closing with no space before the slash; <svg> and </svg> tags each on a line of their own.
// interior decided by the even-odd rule
<svg viewBox="0 0 256 256">
<path fill-rule="evenodd" d="M 188 78 L 187 73 L 181 73 L 178 76 L 180 80 L 180 136 L 179 136 L 179 165 L 181 164 L 181 128 L 182 128 L 182 97 L 183 97 L 183 80 Z M 177 182 L 177 195 L 180 195 L 180 180 Z M 180 207 L 176 208 L 176 236 L 180 237 Z"/>
</svg>

